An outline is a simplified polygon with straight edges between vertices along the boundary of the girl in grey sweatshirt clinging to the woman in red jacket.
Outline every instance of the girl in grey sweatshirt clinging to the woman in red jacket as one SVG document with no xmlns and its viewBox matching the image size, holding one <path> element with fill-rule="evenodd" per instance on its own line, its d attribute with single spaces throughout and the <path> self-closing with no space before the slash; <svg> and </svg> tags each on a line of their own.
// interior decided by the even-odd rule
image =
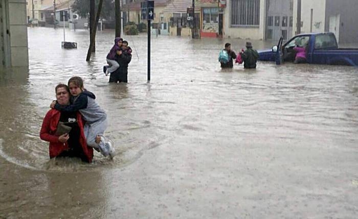
<svg viewBox="0 0 358 219">
<path fill-rule="evenodd" d="M 103 136 L 107 128 L 107 114 L 96 103 L 95 94 L 84 89 L 83 80 L 80 77 L 72 77 L 69 80 L 69 87 L 72 94 L 71 105 L 61 106 L 56 103 L 54 108 L 61 112 L 79 111 L 85 120 L 84 135 L 87 145 L 101 152 L 103 156 L 109 155 L 113 158 L 115 149 Z"/>
</svg>

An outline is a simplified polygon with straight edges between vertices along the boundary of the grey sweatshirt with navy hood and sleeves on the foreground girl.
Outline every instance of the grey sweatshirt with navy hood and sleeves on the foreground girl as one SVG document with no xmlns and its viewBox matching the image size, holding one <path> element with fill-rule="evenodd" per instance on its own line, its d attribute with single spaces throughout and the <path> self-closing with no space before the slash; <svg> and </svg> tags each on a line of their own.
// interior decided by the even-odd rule
<svg viewBox="0 0 358 219">
<path fill-rule="evenodd" d="M 94 93 L 84 90 L 78 96 L 71 97 L 71 105 L 61 106 L 57 103 L 55 109 L 61 112 L 80 111 L 86 123 L 93 124 L 107 118 L 106 112 L 96 103 L 95 99 Z"/>
</svg>

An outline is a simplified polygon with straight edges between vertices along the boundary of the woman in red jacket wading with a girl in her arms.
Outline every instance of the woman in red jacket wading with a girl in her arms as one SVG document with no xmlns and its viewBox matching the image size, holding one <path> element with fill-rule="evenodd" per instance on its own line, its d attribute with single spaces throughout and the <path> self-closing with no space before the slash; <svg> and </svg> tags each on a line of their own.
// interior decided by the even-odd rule
<svg viewBox="0 0 358 219">
<path fill-rule="evenodd" d="M 56 99 L 60 105 L 70 104 L 70 89 L 65 84 L 59 84 L 55 88 Z M 69 133 L 56 135 L 59 122 L 65 127 L 71 127 Z M 40 138 L 50 142 L 50 158 L 54 157 L 79 157 L 83 161 L 91 163 L 93 148 L 87 147 L 83 132 L 82 116 L 79 112 L 65 113 L 51 109 L 43 118 Z"/>
</svg>

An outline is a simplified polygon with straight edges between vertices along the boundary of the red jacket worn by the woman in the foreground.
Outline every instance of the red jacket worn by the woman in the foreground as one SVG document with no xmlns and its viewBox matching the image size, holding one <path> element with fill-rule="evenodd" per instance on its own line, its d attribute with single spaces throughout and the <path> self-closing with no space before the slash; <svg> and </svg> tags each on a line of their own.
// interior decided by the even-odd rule
<svg viewBox="0 0 358 219">
<path fill-rule="evenodd" d="M 57 157 L 62 152 L 70 149 L 67 142 L 61 143 L 58 140 L 58 136 L 55 135 L 57 124 L 60 120 L 60 115 L 61 115 L 60 111 L 51 109 L 43 118 L 43 122 L 42 122 L 40 138 L 44 141 L 50 142 L 50 147 L 49 147 L 50 158 Z M 91 163 L 93 158 L 93 148 L 87 147 L 86 138 L 84 137 L 84 131 L 83 131 L 82 116 L 80 113 L 77 113 L 77 123 L 81 133 L 79 142 L 81 144 L 83 154 L 85 155 L 86 161 L 88 163 Z"/>
</svg>

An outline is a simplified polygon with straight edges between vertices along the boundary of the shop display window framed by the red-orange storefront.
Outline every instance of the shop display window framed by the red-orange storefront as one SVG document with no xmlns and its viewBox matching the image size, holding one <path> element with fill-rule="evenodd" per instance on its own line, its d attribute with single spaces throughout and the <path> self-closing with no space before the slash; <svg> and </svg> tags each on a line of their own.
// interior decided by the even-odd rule
<svg viewBox="0 0 358 219">
<path fill-rule="evenodd" d="M 203 31 L 209 33 L 219 32 L 219 9 L 204 8 L 203 10 Z"/>
</svg>

